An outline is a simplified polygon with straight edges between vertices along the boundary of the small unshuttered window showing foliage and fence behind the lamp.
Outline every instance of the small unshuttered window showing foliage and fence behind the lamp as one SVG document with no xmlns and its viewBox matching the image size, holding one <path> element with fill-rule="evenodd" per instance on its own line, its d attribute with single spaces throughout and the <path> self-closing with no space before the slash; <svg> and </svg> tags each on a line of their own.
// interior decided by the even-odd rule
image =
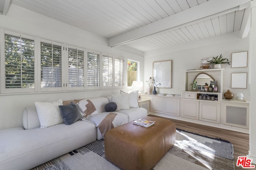
<svg viewBox="0 0 256 170">
<path fill-rule="evenodd" d="M 138 63 L 135 61 L 127 61 L 127 86 L 132 86 L 133 81 L 137 81 Z"/>
</svg>

